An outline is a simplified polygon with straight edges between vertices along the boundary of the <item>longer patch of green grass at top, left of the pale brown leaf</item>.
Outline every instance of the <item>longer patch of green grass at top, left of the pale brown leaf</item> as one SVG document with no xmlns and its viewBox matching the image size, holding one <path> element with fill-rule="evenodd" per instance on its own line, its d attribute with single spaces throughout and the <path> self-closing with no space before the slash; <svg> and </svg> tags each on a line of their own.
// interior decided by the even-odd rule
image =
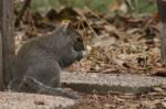
<svg viewBox="0 0 166 109">
<path fill-rule="evenodd" d="M 94 11 L 105 12 L 106 6 L 112 0 L 32 0 L 31 9 L 33 11 L 44 11 L 50 8 L 59 10 L 62 6 L 84 8 L 89 7 Z"/>
</svg>

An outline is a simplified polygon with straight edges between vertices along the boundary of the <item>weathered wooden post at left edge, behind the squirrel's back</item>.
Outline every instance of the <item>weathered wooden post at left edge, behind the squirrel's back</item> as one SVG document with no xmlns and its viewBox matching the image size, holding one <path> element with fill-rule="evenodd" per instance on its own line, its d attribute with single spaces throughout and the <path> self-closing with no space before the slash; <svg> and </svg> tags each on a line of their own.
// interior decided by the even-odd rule
<svg viewBox="0 0 166 109">
<path fill-rule="evenodd" d="M 14 58 L 13 21 L 13 0 L 0 0 L 0 80 L 2 80 L 0 81 L 0 88 L 1 86 L 7 88 L 7 84 L 12 78 L 11 70 Z"/>
</svg>

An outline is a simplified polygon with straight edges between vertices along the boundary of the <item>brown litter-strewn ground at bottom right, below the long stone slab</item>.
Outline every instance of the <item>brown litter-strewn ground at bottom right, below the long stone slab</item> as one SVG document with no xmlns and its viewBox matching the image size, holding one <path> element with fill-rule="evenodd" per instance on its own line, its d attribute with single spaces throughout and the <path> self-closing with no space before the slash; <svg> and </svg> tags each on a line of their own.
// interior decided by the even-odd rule
<svg viewBox="0 0 166 109">
<path fill-rule="evenodd" d="M 94 94 L 83 97 L 75 109 L 166 109 L 165 92 L 146 95 L 111 92 L 105 96 Z"/>
</svg>

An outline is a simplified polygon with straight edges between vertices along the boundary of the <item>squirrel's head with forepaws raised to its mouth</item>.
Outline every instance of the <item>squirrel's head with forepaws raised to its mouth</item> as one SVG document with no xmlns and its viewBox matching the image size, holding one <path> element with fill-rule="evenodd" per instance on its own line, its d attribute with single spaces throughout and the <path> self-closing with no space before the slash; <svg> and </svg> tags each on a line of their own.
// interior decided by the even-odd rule
<svg viewBox="0 0 166 109">
<path fill-rule="evenodd" d="M 75 61 L 80 61 L 83 57 L 83 52 L 85 50 L 82 35 L 73 29 L 71 22 L 63 22 L 61 26 L 58 28 L 59 39 L 62 41 L 59 42 L 62 44 L 64 50 L 61 54 L 61 66 L 65 67 L 71 65 Z"/>
</svg>

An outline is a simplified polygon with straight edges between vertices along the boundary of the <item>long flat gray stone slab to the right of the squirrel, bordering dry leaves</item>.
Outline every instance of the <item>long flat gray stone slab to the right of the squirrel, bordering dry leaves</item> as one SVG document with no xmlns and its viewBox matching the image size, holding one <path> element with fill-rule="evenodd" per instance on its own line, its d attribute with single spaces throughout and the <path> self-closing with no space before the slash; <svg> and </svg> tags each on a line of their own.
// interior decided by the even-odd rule
<svg viewBox="0 0 166 109">
<path fill-rule="evenodd" d="M 141 75 L 123 74 L 95 74 L 95 73 L 63 73 L 62 83 L 83 92 L 96 91 L 122 91 L 144 94 L 153 87 L 166 85 L 164 77 L 151 77 Z"/>
</svg>

